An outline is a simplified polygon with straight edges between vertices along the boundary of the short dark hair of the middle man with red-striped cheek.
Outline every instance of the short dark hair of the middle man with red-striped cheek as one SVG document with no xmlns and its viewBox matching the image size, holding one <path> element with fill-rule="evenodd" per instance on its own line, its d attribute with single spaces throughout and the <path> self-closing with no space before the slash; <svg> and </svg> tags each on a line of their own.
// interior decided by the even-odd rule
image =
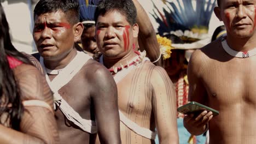
<svg viewBox="0 0 256 144">
<path fill-rule="evenodd" d="M 94 15 L 95 23 L 97 23 L 98 16 L 113 10 L 117 10 L 119 13 L 125 15 L 126 20 L 131 26 L 136 23 L 137 11 L 131 0 L 102 0 L 98 2 Z"/>
</svg>

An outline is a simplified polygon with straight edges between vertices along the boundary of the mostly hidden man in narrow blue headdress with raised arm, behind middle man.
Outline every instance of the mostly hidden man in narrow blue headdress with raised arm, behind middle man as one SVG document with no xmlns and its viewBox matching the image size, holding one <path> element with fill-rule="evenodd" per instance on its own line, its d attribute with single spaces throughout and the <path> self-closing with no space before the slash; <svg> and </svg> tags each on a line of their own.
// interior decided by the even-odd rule
<svg viewBox="0 0 256 144">
<path fill-rule="evenodd" d="M 91 0 L 88 4 L 85 1 L 79 1 L 80 4 L 80 21 L 82 21 L 84 25 L 84 31 L 81 35 L 81 43 L 83 45 L 83 49 L 91 55 L 95 59 L 98 59 L 98 47 L 95 39 L 95 21 L 94 21 L 94 12 L 96 9 L 96 4 L 99 0 Z M 134 39 L 133 46 L 134 49 L 138 50 L 146 50 L 147 56 L 150 58 L 155 65 L 161 66 L 161 59 L 159 59 L 160 48 L 158 41 L 156 39 L 156 33 L 150 19 L 143 9 L 141 4 L 137 0 L 133 0 L 135 7 L 137 9 L 137 23 L 139 26 L 139 35 L 138 39 Z M 138 46 L 139 44 L 139 46 Z M 157 60 L 158 59 L 158 60 Z"/>
</svg>

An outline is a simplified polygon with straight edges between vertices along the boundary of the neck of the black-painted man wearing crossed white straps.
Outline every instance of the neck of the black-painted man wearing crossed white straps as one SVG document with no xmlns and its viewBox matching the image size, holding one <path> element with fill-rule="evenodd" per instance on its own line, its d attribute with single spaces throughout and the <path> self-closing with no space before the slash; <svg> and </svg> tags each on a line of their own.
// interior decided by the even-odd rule
<svg viewBox="0 0 256 144">
<path fill-rule="evenodd" d="M 77 50 L 72 49 L 67 55 L 61 58 L 44 59 L 44 65 L 48 69 L 63 69 L 68 65 L 72 59 L 77 55 Z"/>
</svg>

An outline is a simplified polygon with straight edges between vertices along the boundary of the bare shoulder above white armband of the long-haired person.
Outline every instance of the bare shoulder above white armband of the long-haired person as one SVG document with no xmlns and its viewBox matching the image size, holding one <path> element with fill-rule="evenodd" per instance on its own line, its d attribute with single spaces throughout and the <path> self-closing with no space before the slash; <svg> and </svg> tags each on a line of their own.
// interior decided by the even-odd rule
<svg viewBox="0 0 256 144">
<path fill-rule="evenodd" d="M 13 70 L 22 100 L 44 100 L 51 104 L 53 97 L 50 88 L 44 75 L 36 67 L 21 64 Z"/>
</svg>

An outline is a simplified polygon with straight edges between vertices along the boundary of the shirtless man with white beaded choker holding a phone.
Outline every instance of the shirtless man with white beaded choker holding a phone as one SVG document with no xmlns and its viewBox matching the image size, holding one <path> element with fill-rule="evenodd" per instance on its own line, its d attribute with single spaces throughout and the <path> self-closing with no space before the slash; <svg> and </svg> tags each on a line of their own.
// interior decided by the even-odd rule
<svg viewBox="0 0 256 144">
<path fill-rule="evenodd" d="M 219 111 L 184 118 L 191 134 L 208 124 L 210 143 L 256 141 L 256 1 L 219 0 L 214 12 L 227 36 L 193 53 L 189 61 L 189 98 Z"/>
</svg>

